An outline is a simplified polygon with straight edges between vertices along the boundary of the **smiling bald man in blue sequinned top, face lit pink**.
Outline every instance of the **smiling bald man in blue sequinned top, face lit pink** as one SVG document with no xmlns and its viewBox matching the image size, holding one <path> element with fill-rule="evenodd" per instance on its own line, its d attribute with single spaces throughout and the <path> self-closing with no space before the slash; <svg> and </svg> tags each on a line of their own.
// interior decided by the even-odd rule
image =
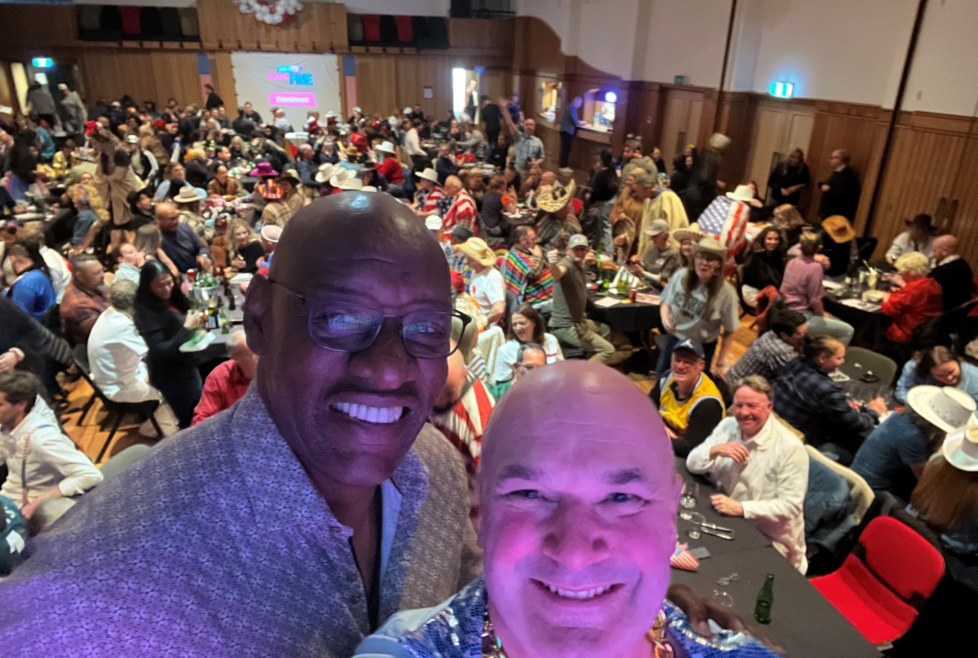
<svg viewBox="0 0 978 658">
<path fill-rule="evenodd" d="M 493 411 L 483 443 L 484 577 L 435 607 L 394 615 L 354 655 L 701 655 L 712 636 L 707 618 L 742 628 L 726 608 L 669 586 L 675 473 L 641 395 L 597 364 L 528 374 Z M 619 479 L 629 482 L 609 482 Z M 620 596 L 580 605 L 559 589 L 612 581 L 621 581 Z M 774 655 L 752 636 L 725 635 L 730 658 Z"/>
</svg>

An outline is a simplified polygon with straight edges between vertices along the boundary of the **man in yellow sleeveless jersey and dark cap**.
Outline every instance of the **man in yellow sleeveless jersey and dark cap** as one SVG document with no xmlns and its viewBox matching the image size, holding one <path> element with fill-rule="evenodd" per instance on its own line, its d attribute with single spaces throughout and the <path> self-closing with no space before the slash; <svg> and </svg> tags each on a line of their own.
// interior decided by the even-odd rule
<svg viewBox="0 0 978 658">
<path fill-rule="evenodd" d="M 723 395 L 703 370 L 703 346 L 695 340 L 676 345 L 670 369 L 658 376 L 649 397 L 672 439 L 673 452 L 680 457 L 701 444 L 726 413 Z"/>
</svg>

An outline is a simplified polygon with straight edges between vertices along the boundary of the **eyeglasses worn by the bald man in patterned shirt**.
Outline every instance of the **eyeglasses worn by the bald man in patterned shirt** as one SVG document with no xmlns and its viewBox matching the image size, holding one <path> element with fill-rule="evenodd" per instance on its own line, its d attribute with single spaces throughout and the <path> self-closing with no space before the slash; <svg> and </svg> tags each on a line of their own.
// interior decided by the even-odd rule
<svg viewBox="0 0 978 658">
<path fill-rule="evenodd" d="M 472 321 L 465 313 L 415 311 L 403 316 L 383 315 L 377 309 L 344 301 L 304 297 L 285 285 L 270 282 L 302 301 L 306 309 L 309 338 L 334 352 L 362 352 L 374 344 L 387 318 L 401 321 L 404 349 L 417 359 L 444 359 L 455 353 L 451 345 L 452 323 L 462 323 L 459 342 Z"/>
</svg>

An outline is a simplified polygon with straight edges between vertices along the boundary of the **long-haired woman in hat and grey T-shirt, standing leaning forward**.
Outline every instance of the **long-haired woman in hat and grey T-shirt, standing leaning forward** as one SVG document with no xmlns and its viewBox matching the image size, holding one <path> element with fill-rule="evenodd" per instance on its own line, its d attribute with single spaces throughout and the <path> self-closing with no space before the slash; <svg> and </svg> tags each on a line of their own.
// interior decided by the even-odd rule
<svg viewBox="0 0 978 658">
<path fill-rule="evenodd" d="M 720 341 L 716 370 L 723 374 L 733 331 L 740 326 L 736 290 L 723 276 L 727 249 L 712 238 L 703 238 L 692 245 L 692 256 L 692 265 L 673 275 L 662 291 L 659 312 L 669 339 L 659 354 L 655 368 L 659 374 L 669 370 L 676 345 L 690 339 L 702 343 L 707 371 Z"/>
</svg>

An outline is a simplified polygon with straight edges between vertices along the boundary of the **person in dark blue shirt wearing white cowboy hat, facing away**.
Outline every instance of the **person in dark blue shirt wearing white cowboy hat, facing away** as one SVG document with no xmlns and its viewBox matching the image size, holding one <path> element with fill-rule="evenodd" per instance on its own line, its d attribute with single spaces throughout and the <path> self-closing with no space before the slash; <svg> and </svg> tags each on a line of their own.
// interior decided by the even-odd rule
<svg viewBox="0 0 978 658">
<path fill-rule="evenodd" d="M 949 432 L 963 429 L 975 412 L 975 401 L 951 386 L 914 386 L 908 406 L 872 430 L 850 466 L 873 491 L 902 501 Z"/>
</svg>

